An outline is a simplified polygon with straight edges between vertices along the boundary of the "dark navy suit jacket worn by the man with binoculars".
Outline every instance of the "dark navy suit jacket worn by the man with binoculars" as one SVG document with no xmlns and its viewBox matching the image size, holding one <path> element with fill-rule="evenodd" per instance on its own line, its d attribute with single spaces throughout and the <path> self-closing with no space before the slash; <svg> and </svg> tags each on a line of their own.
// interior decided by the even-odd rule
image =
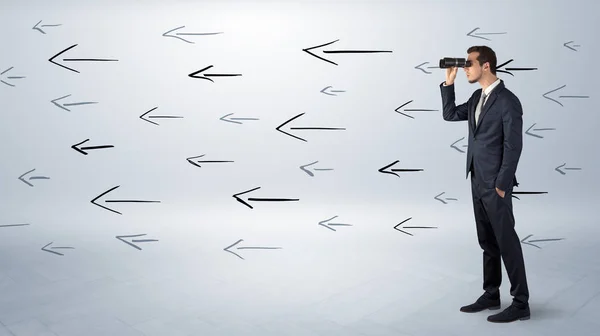
<svg viewBox="0 0 600 336">
<path fill-rule="evenodd" d="M 475 127 L 475 108 L 482 89 L 455 104 L 454 84 L 440 84 L 446 121 L 468 121 L 467 177 L 469 171 L 482 186 L 512 190 L 518 186 L 515 173 L 523 148 L 523 109 L 519 98 L 500 81 L 486 99 Z"/>
</svg>

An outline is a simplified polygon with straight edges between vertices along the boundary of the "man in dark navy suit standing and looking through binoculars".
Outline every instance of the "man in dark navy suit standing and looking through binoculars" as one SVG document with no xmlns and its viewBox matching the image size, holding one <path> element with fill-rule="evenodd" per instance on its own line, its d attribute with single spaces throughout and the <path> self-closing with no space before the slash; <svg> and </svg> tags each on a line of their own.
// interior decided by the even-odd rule
<svg viewBox="0 0 600 336">
<path fill-rule="evenodd" d="M 473 92 L 467 102 L 456 105 L 454 80 L 458 69 L 446 69 L 446 81 L 440 84 L 444 120 L 468 123 L 467 178 L 471 173 L 477 238 L 483 250 L 484 293 L 460 310 L 472 313 L 500 308 L 503 260 L 513 301 L 487 319 L 526 320 L 530 317 L 529 290 L 512 206 L 523 147 L 523 110 L 519 99 L 496 77 L 494 51 L 487 46 L 473 46 L 467 54 L 467 79 L 471 84 L 479 83 L 481 89 Z"/>
</svg>

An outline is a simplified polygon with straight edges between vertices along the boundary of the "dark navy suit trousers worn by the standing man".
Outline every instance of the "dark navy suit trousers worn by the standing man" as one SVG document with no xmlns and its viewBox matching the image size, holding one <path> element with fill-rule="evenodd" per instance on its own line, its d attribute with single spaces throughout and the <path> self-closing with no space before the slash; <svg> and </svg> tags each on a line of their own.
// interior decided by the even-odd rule
<svg viewBox="0 0 600 336">
<path fill-rule="evenodd" d="M 510 280 L 510 294 L 517 306 L 529 304 L 529 289 L 521 241 L 515 231 L 512 187 L 500 197 L 471 171 L 473 210 L 479 245 L 483 249 L 483 289 L 488 297 L 499 297 L 502 263 Z"/>
</svg>

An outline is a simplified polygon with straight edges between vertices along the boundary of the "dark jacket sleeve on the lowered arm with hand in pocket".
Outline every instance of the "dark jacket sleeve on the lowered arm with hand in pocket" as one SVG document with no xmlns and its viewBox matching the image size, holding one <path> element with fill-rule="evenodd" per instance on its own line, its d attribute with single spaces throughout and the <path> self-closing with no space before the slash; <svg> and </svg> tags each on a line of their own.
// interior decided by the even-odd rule
<svg viewBox="0 0 600 336">
<path fill-rule="evenodd" d="M 521 151 L 523 150 L 523 108 L 517 97 L 509 98 L 502 110 L 504 149 L 502 165 L 496 178 L 496 188 L 506 191 L 513 186 Z"/>
</svg>

